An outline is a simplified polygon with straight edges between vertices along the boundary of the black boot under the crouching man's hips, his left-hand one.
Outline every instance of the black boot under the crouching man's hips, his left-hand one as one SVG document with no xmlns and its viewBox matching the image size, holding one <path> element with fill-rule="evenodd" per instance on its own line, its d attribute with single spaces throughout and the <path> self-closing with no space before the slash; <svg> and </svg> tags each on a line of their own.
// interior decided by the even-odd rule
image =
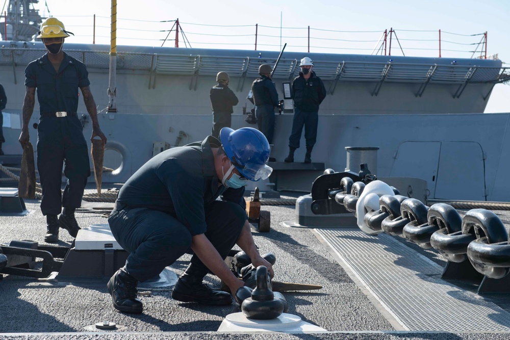
<svg viewBox="0 0 510 340">
<path fill-rule="evenodd" d="M 140 314 L 143 311 L 142 301 L 136 298 L 137 284 L 138 281 L 125 270 L 125 267 L 113 274 L 106 286 L 116 309 L 135 314 Z"/>
</svg>

